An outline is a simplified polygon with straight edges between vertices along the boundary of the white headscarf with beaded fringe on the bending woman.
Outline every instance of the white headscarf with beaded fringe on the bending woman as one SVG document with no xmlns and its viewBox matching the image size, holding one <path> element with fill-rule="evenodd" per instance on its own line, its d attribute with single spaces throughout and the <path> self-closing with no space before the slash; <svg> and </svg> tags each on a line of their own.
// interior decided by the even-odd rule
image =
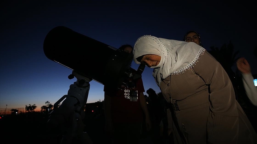
<svg viewBox="0 0 257 144">
<path fill-rule="evenodd" d="M 141 36 L 137 39 L 133 54 L 134 61 L 142 55 L 159 55 L 161 61 L 153 66 L 153 77 L 160 87 L 162 79 L 169 75 L 184 73 L 195 65 L 205 49 L 194 42 L 176 41 L 171 39 L 157 38 L 151 35 Z"/>
</svg>

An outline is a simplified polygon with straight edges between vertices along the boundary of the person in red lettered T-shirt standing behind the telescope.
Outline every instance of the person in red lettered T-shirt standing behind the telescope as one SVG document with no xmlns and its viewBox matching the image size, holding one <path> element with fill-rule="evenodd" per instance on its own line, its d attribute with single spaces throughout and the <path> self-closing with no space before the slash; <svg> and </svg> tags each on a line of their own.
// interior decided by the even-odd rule
<svg viewBox="0 0 257 144">
<path fill-rule="evenodd" d="M 133 48 L 130 45 L 123 45 L 119 49 L 131 53 Z M 112 144 L 139 143 L 143 116 L 147 131 L 151 129 L 142 79 L 126 80 L 126 85 L 115 91 L 104 86 L 105 131 L 110 134 Z"/>
</svg>

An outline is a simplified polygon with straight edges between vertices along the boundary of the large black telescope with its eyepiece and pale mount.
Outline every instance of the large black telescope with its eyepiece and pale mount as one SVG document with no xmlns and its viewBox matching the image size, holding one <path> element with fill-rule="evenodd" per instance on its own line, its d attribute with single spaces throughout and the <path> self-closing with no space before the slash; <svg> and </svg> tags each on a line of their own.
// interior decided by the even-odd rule
<svg viewBox="0 0 257 144">
<path fill-rule="evenodd" d="M 70 28 L 57 26 L 48 32 L 43 43 L 46 57 L 72 70 L 68 79 L 76 77 L 67 95 L 56 103 L 48 117 L 48 128 L 62 135 L 61 144 L 92 144 L 84 132 L 84 107 L 91 80 L 115 91 L 126 80 L 139 79 L 145 68 L 130 67 L 133 60 L 129 54 L 110 45 L 77 33 Z M 135 72 L 136 71 L 136 72 Z M 61 103 L 61 104 L 60 104 Z"/>
</svg>

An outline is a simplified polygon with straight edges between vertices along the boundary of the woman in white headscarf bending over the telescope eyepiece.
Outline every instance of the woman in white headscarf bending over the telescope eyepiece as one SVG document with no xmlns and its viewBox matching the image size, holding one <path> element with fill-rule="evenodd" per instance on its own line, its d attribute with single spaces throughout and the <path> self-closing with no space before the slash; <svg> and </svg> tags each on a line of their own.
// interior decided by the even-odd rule
<svg viewBox="0 0 257 144">
<path fill-rule="evenodd" d="M 153 68 L 171 107 L 174 143 L 257 143 L 227 73 L 203 47 L 146 35 L 133 53 L 135 63 Z"/>
</svg>

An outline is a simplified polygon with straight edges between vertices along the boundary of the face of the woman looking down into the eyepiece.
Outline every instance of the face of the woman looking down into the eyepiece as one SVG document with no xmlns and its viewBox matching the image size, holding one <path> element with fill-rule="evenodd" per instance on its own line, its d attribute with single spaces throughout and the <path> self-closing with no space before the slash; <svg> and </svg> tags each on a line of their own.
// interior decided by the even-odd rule
<svg viewBox="0 0 257 144">
<path fill-rule="evenodd" d="M 140 61 L 140 63 L 145 63 L 146 66 L 152 67 L 156 66 L 160 63 L 161 57 L 159 55 L 144 55 Z"/>
</svg>

